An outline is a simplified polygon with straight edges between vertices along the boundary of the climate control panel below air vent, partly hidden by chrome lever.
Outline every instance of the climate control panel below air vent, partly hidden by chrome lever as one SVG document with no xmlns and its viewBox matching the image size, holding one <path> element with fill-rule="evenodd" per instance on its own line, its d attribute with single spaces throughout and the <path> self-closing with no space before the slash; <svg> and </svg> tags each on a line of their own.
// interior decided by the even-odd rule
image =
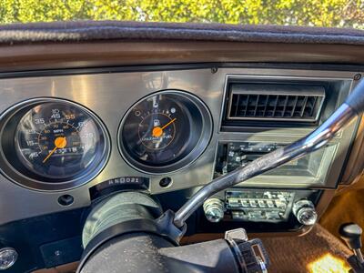
<svg viewBox="0 0 364 273">
<path fill-rule="evenodd" d="M 251 161 L 262 157 L 286 144 L 281 142 L 253 142 L 253 141 L 221 141 L 217 146 L 217 161 L 215 177 L 225 175 L 238 167 L 247 166 Z M 334 159 L 337 144 L 330 143 L 306 157 L 301 157 L 282 167 L 268 171 L 261 176 L 249 179 L 244 185 L 254 181 L 265 183 L 269 181 L 271 187 L 291 184 L 306 184 L 310 186 L 325 185 L 332 160 Z M 267 185 L 265 186 L 267 187 Z"/>
</svg>

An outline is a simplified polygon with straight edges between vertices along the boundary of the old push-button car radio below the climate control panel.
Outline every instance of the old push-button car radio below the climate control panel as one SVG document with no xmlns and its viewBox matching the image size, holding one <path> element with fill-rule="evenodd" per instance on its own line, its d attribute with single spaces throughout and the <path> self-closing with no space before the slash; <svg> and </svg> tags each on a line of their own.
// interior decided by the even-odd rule
<svg viewBox="0 0 364 273">
<path fill-rule="evenodd" d="M 322 194 L 319 189 L 231 187 L 207 199 L 201 220 L 213 232 L 241 225 L 249 232 L 294 231 L 306 225 L 301 218 L 298 219 L 302 204 L 317 219 L 315 207 Z M 308 204 L 310 207 L 306 206 Z M 212 218 L 218 215 L 217 209 L 220 209 L 221 215 L 218 219 Z"/>
</svg>

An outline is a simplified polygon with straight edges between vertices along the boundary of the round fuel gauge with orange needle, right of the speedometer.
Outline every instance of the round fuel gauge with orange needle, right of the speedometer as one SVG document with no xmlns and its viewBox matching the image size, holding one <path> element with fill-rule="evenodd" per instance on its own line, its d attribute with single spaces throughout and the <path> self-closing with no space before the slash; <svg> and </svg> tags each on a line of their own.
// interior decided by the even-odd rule
<svg viewBox="0 0 364 273">
<path fill-rule="evenodd" d="M 196 96 L 162 91 L 133 106 L 120 126 L 119 144 L 126 161 L 148 173 L 175 171 L 207 147 L 211 117 Z"/>
</svg>

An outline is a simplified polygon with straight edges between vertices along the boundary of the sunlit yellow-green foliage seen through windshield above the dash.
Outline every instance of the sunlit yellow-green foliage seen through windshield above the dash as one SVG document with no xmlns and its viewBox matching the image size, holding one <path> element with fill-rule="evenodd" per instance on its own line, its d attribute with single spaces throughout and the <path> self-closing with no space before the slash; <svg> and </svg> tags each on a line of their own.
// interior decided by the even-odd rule
<svg viewBox="0 0 364 273">
<path fill-rule="evenodd" d="M 0 24 L 70 20 L 364 29 L 364 0 L 1 0 Z"/>
</svg>

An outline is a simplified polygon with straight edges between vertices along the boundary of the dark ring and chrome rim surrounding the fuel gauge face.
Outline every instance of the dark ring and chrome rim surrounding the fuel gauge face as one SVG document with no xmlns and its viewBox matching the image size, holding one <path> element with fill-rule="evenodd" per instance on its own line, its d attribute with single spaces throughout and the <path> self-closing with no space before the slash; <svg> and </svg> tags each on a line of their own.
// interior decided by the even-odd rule
<svg viewBox="0 0 364 273">
<path fill-rule="evenodd" d="M 189 151 L 189 153 L 185 156 L 179 159 L 177 162 L 174 162 L 169 165 L 165 165 L 163 167 L 156 167 L 156 166 L 148 166 L 146 164 L 142 164 L 136 159 L 134 159 L 132 156 L 129 155 L 129 153 L 126 150 L 126 147 L 124 147 L 123 139 L 122 139 L 122 130 L 123 127 L 126 124 L 126 118 L 129 116 L 129 114 L 133 111 L 135 106 L 137 106 L 139 103 L 143 102 L 144 100 L 158 95 L 177 95 L 177 96 L 183 96 L 185 99 L 189 100 L 194 104 L 194 106 L 197 107 L 199 114 L 202 118 L 202 130 L 201 134 L 198 138 L 196 146 Z M 118 150 L 123 157 L 123 159 L 126 161 L 126 163 L 130 166 L 136 169 L 139 172 L 148 174 L 148 175 L 167 175 L 171 173 L 175 173 L 179 170 L 182 170 L 186 167 L 189 167 L 192 165 L 196 160 L 204 153 L 204 151 L 207 149 L 207 146 L 211 140 L 213 132 L 213 120 L 211 113 L 206 106 L 206 104 L 197 96 L 184 91 L 184 90 L 177 90 L 177 89 L 165 89 L 160 90 L 157 92 L 154 92 L 152 94 L 149 94 L 148 96 L 141 97 L 139 100 L 136 101 L 133 106 L 130 106 L 129 109 L 126 111 L 126 114 L 123 116 L 120 125 L 117 129 L 117 146 Z"/>
</svg>

